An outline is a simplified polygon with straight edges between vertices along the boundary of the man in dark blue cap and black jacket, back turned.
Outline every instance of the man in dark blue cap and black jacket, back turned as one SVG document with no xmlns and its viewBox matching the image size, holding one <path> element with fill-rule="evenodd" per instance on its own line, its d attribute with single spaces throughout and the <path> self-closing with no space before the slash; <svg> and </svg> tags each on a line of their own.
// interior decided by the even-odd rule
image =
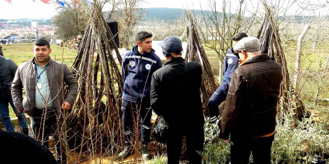
<svg viewBox="0 0 329 164">
<path fill-rule="evenodd" d="M 166 37 L 162 50 L 167 62 L 152 75 L 151 109 L 169 125 L 168 164 L 179 163 L 183 136 L 186 136 L 190 164 L 201 164 L 204 142 L 201 66 L 184 62 L 182 41 L 178 37 Z"/>
</svg>

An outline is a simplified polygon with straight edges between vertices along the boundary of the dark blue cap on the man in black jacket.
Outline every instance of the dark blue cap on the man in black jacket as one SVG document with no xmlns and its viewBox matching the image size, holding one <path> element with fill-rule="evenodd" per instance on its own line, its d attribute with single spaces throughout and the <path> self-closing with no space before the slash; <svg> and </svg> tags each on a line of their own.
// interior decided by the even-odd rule
<svg viewBox="0 0 329 164">
<path fill-rule="evenodd" d="M 170 53 L 182 54 L 182 41 L 176 36 L 168 36 L 164 38 L 161 44 L 162 53 L 165 57 L 170 56 Z"/>
</svg>

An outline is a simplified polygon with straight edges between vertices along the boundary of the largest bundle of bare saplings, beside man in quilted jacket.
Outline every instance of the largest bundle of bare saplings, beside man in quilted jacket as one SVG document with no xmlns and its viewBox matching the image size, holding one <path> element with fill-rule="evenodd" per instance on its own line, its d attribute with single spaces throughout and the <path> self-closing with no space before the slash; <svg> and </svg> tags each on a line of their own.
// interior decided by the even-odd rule
<svg viewBox="0 0 329 164">
<path fill-rule="evenodd" d="M 74 151 L 71 153 L 79 154 L 73 157 L 74 162 L 94 157 L 97 163 L 104 156 L 112 158 L 124 145 L 120 124 L 123 81 L 117 65 L 122 58 L 113 55 L 119 51 L 103 18 L 102 6 L 99 1 L 92 6 L 84 39 L 71 67 L 79 88 L 65 124 L 67 142 Z"/>
</svg>

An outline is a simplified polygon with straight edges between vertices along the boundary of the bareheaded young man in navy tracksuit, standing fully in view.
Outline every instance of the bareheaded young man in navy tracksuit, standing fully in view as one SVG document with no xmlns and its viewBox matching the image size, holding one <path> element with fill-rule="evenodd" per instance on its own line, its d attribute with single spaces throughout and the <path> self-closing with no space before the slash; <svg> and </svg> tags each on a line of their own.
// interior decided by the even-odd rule
<svg viewBox="0 0 329 164">
<path fill-rule="evenodd" d="M 125 148 L 117 159 L 124 159 L 131 154 L 131 142 L 134 136 L 134 123 L 141 124 L 141 154 L 143 159 L 150 159 L 147 143 L 151 133 L 150 88 L 152 74 L 162 67 L 160 58 L 152 49 L 152 34 L 137 33 L 135 45 L 122 59 L 122 79 L 124 81 L 121 119 L 124 126 Z"/>
</svg>

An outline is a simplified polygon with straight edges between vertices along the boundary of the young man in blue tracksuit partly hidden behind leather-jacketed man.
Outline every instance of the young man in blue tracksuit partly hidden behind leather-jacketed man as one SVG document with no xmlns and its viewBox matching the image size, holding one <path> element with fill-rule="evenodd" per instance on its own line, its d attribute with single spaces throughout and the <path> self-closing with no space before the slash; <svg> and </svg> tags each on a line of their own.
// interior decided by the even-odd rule
<svg viewBox="0 0 329 164">
<path fill-rule="evenodd" d="M 248 35 L 244 32 L 239 32 L 233 37 L 231 37 L 232 44 L 235 45 L 244 37 L 248 37 Z M 232 73 L 235 69 L 239 67 L 239 54 L 233 51 L 233 47 L 229 49 L 226 53 L 224 64 L 223 64 L 223 73 L 224 79 L 217 90 L 210 97 L 208 102 L 208 111 L 210 116 L 210 122 L 215 123 L 219 119 L 219 104 L 225 101 L 226 95 L 228 92 L 228 87 L 230 85 L 230 81 L 232 78 Z M 220 121 L 219 123 L 220 124 Z"/>
</svg>

